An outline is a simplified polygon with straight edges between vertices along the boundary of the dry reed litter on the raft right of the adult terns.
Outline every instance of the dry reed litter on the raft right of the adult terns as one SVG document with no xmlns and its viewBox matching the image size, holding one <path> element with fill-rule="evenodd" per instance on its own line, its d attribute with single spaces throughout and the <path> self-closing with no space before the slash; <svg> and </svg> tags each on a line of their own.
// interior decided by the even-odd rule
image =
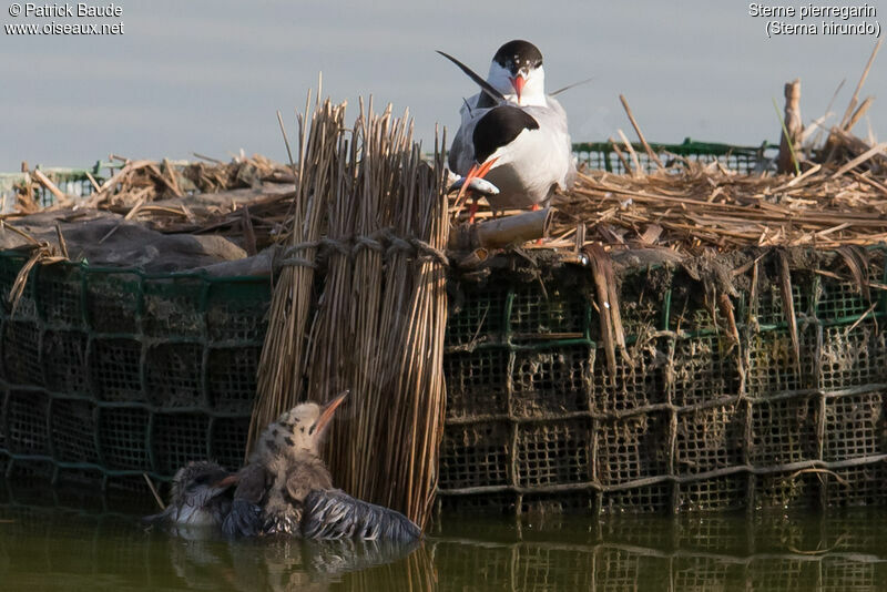
<svg viewBox="0 0 887 592">
<path fill-rule="evenodd" d="M 571 246 L 584 223 L 613 248 L 747 246 L 836 248 L 887 239 L 887 167 L 864 172 L 806 161 L 802 175 L 751 176 L 720 163 L 686 162 L 642 177 L 588 171 L 555 197 L 548 246 Z M 839 174 L 835 174 L 835 173 Z M 818 174 L 817 174 L 818 173 Z"/>
</svg>

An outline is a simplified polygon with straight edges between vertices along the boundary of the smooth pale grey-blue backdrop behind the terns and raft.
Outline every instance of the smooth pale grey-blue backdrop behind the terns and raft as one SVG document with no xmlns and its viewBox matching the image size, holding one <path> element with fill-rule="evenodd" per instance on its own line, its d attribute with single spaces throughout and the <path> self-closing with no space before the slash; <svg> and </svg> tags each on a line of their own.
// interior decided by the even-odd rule
<svg viewBox="0 0 887 592">
<path fill-rule="evenodd" d="M 430 142 L 435 122 L 455 131 L 461 98 L 476 92 L 435 50 L 486 75 L 496 49 L 516 38 L 542 50 L 550 90 L 594 76 L 562 95 L 574 141 L 602 140 L 619 127 L 633 136 L 623 93 L 649 140 L 758 144 L 778 140 L 772 99 L 782 105 L 783 83 L 796 76 L 805 123 L 825 112 L 846 78 L 834 109 L 839 116 L 876 42 L 767 39 L 766 19 L 748 16 L 740 0 L 130 0 L 118 2 L 120 19 L 106 21 L 13 19 L 11 3 L 0 0 L 3 24 L 122 21 L 124 34 L 0 31 L 0 171 L 18 170 L 22 160 L 83 166 L 109 152 L 226 159 L 244 149 L 283 161 L 275 112 L 292 124 L 318 71 L 325 93 L 355 106 L 348 119 L 356 98 L 371 93 L 397 112 L 409 106 L 417 135 Z M 881 139 L 886 68 L 887 51 L 863 93 L 879 96 L 869 114 Z M 866 131 L 864 120 L 856 132 Z"/>
</svg>

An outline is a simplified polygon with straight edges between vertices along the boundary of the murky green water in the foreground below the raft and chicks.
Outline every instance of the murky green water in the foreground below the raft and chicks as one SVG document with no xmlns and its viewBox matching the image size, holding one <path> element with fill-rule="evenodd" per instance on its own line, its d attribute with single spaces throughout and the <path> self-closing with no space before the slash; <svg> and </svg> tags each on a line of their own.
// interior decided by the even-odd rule
<svg viewBox="0 0 887 592">
<path fill-rule="evenodd" d="M 443 516 L 415 549 L 146 531 L 149 500 L 0 499 L 2 590 L 887 590 L 887 509 Z"/>
</svg>

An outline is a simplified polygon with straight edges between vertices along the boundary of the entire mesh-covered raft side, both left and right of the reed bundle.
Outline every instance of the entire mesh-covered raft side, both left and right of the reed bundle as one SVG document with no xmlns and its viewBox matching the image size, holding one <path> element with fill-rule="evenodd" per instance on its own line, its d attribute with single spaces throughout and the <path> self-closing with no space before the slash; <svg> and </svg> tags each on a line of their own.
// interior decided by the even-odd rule
<svg viewBox="0 0 887 592">
<path fill-rule="evenodd" d="M 0 254 L 3 295 L 23 261 Z M 873 261 L 883 283 L 883 253 Z M 631 356 L 612 376 L 588 269 L 451 282 L 442 507 L 887 502 L 879 292 L 869 302 L 847 282 L 793 271 L 796 360 L 777 286 L 732 298 L 737 347 L 699 285 L 634 269 L 619 288 Z M 14 316 L 0 313 L 0 468 L 139 488 L 142 472 L 165 480 L 192 459 L 239 466 L 269 294 L 266 278 L 35 268 Z"/>
</svg>

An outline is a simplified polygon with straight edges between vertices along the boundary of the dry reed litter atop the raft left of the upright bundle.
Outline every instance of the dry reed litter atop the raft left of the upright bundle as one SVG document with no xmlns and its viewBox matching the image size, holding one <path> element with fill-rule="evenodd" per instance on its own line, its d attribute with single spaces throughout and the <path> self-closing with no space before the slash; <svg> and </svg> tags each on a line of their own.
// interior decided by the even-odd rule
<svg viewBox="0 0 887 592">
<path fill-rule="evenodd" d="M 259 154 L 227 163 L 200 156 L 211 162 L 187 164 L 111 157 L 120 169 L 101 184 L 86 173 L 93 192 L 85 197 L 64 194 L 40 170 L 29 171 L 17 187 L 16 208 L 0 220 L 14 224 L 29 214 L 53 212 L 73 222 L 96 210 L 120 215 L 121 224 L 139 223 L 164 234 L 224 235 L 248 255 L 273 244 L 287 220 L 295 175 Z M 38 204 L 41 185 L 54 196 L 53 204 Z"/>
</svg>

